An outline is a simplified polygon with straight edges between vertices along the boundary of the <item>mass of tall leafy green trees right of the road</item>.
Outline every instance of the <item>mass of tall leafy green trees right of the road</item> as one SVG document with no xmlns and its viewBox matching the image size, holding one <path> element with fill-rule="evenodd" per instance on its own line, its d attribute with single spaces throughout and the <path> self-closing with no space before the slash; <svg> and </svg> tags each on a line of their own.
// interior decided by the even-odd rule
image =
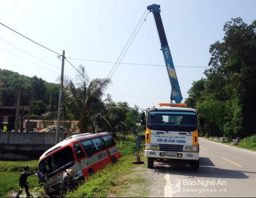
<svg viewBox="0 0 256 198">
<path fill-rule="evenodd" d="M 223 30 L 223 42 L 216 41 L 209 50 L 204 91 L 197 81 L 187 100 L 194 107 L 194 97 L 201 94 L 198 109 L 212 135 L 249 136 L 256 133 L 256 20 L 248 25 L 239 17 L 231 19 Z"/>
</svg>

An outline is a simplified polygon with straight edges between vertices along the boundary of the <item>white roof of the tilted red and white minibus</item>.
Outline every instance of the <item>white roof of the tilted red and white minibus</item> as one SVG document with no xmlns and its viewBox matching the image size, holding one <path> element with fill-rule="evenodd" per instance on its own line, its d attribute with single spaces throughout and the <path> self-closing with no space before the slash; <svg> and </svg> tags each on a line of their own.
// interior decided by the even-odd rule
<svg viewBox="0 0 256 198">
<path fill-rule="evenodd" d="M 95 134 L 82 133 L 82 134 L 78 134 L 78 135 L 72 135 L 72 136 L 66 138 L 65 140 L 63 140 L 62 142 L 56 144 L 55 146 L 49 148 L 47 151 L 45 151 L 44 154 L 41 155 L 41 157 L 39 158 L 39 161 L 42 158 L 46 157 L 48 154 L 52 153 L 53 151 L 57 150 L 58 148 L 66 146 L 69 143 L 76 142 L 78 140 L 87 140 L 87 139 L 91 139 L 94 137 L 100 137 L 100 136 L 106 136 L 106 135 L 110 135 L 110 134 L 107 132 L 102 132 L 102 133 L 95 133 Z"/>
</svg>

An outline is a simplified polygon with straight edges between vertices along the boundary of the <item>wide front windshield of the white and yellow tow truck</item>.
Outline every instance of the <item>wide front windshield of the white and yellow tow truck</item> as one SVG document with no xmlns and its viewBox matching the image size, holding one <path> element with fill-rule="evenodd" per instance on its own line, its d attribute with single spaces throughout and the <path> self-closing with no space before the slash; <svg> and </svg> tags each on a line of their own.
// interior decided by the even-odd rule
<svg viewBox="0 0 256 198">
<path fill-rule="evenodd" d="M 151 111 L 147 128 L 159 131 L 195 131 L 197 115 L 194 111 Z"/>
</svg>

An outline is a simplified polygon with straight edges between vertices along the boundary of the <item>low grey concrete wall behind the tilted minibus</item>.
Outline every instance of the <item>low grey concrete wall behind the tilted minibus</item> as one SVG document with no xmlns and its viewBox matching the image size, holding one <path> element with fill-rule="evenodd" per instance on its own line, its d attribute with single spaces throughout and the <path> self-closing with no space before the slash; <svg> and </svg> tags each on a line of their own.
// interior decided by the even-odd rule
<svg viewBox="0 0 256 198">
<path fill-rule="evenodd" d="M 0 159 L 39 159 L 46 150 L 55 145 L 55 136 L 56 133 L 0 132 Z M 67 133 L 60 134 L 60 141 L 67 136 Z"/>
</svg>

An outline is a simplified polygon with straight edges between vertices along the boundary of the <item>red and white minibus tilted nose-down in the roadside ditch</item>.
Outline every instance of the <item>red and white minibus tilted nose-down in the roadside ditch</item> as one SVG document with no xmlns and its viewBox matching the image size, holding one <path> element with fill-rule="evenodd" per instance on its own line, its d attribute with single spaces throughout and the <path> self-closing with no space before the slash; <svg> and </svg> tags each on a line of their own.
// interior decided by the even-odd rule
<svg viewBox="0 0 256 198">
<path fill-rule="evenodd" d="M 53 195 L 60 190 L 61 177 L 66 169 L 73 169 L 72 181 L 78 181 L 117 162 L 120 157 L 116 144 L 107 132 L 73 135 L 41 155 L 37 176 L 41 177 L 45 192 Z"/>
</svg>

